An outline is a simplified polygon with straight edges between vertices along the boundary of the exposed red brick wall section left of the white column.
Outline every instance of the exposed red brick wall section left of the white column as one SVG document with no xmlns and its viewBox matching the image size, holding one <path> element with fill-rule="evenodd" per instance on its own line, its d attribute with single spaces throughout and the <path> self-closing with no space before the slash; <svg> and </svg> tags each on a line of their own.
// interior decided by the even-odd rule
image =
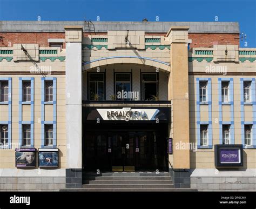
<svg viewBox="0 0 256 209">
<path fill-rule="evenodd" d="M 48 38 L 65 38 L 65 33 L 0 32 L 0 46 L 13 46 L 13 44 L 39 44 L 39 46 L 47 47 L 49 46 Z"/>
</svg>

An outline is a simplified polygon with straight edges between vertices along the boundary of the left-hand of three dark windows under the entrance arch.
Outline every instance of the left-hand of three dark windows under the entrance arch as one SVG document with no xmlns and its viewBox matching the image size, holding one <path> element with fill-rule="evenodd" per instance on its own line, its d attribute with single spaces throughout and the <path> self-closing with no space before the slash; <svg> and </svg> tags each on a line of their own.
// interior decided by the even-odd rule
<svg viewBox="0 0 256 209">
<path fill-rule="evenodd" d="M 89 73 L 89 100 L 104 100 L 104 73 Z"/>
</svg>

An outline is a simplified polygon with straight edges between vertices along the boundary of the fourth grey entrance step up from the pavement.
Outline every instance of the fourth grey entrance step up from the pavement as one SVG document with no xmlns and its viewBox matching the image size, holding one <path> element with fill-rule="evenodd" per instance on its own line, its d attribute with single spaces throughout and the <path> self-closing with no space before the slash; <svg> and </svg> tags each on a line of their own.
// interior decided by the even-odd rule
<svg viewBox="0 0 256 209">
<path fill-rule="evenodd" d="M 130 177 L 130 176 L 110 176 L 110 177 L 84 177 L 83 180 L 171 180 L 171 177 L 165 176 L 157 176 L 157 177 L 149 177 L 149 176 L 139 176 L 139 177 Z"/>
</svg>

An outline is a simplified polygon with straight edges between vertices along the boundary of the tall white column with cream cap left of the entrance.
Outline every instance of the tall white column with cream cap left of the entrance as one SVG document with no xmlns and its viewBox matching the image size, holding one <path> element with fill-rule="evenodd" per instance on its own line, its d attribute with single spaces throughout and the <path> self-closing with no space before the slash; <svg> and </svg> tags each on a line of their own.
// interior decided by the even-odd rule
<svg viewBox="0 0 256 209">
<path fill-rule="evenodd" d="M 81 26 L 65 27 L 67 169 L 82 168 L 82 37 Z"/>
</svg>

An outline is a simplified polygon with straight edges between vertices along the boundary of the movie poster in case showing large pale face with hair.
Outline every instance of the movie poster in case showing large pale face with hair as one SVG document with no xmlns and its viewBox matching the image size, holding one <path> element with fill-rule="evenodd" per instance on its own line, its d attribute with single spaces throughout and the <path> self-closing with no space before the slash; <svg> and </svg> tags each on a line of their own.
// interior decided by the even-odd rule
<svg viewBox="0 0 256 209">
<path fill-rule="evenodd" d="M 24 148 L 15 151 L 16 167 L 36 167 L 36 149 Z"/>
</svg>

